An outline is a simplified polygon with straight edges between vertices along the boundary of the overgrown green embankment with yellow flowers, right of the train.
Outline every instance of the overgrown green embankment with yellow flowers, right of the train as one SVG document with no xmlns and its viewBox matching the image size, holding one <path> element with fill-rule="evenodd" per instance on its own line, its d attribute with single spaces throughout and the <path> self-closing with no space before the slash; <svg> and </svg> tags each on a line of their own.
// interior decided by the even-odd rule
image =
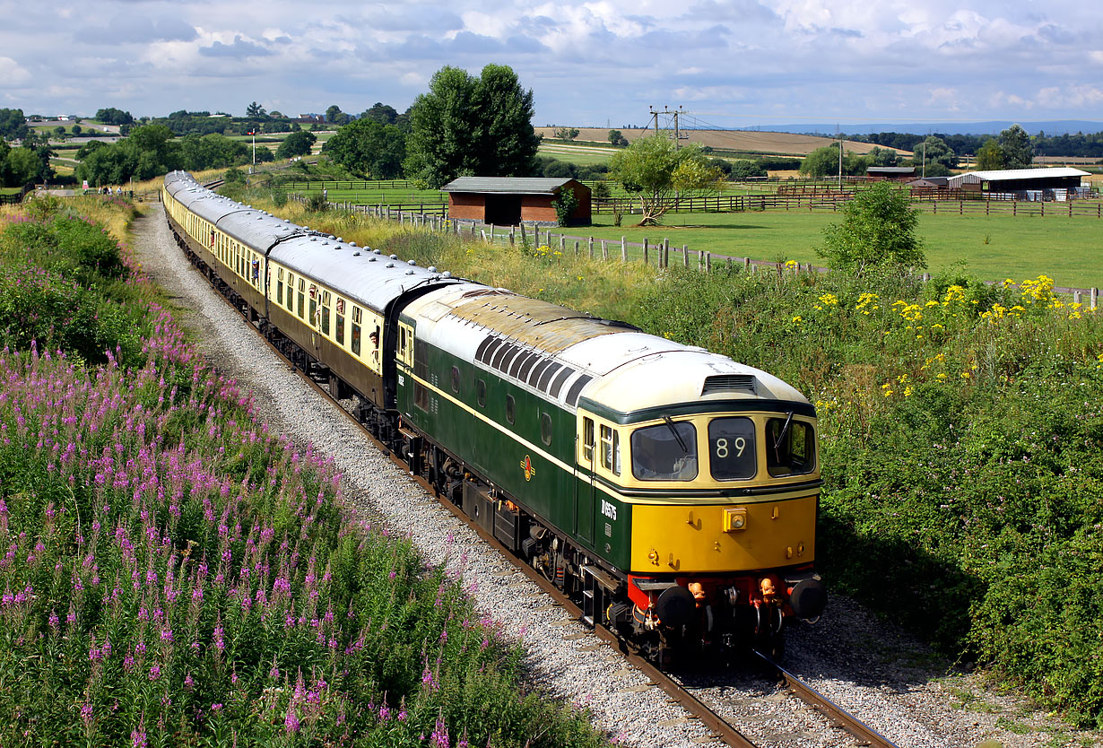
<svg viewBox="0 0 1103 748">
<path fill-rule="evenodd" d="M 1049 279 L 656 275 L 336 212 L 280 213 L 794 384 L 821 417 L 817 560 L 829 587 L 1103 726 L 1103 313 L 1053 296 Z"/>
</svg>

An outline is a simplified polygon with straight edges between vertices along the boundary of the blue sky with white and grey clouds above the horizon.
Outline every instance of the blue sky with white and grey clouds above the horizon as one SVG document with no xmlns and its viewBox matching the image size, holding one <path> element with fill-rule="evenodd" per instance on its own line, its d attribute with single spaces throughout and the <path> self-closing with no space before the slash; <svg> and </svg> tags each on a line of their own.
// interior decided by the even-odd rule
<svg viewBox="0 0 1103 748">
<path fill-rule="evenodd" d="M 534 125 L 1103 120 L 1084 0 L 0 0 L 0 107 L 404 110 L 443 65 L 514 68 Z"/>
</svg>

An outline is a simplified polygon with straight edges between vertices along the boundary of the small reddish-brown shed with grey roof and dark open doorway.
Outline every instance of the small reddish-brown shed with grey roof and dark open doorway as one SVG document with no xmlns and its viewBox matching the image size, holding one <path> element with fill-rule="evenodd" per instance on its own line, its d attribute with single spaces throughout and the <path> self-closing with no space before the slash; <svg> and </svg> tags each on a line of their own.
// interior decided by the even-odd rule
<svg viewBox="0 0 1103 748">
<path fill-rule="evenodd" d="M 570 225 L 589 225 L 590 188 L 574 179 L 535 177 L 460 177 L 441 188 L 448 193 L 448 216 L 503 226 L 556 223 L 555 199 L 564 190 L 578 205 Z"/>
</svg>

